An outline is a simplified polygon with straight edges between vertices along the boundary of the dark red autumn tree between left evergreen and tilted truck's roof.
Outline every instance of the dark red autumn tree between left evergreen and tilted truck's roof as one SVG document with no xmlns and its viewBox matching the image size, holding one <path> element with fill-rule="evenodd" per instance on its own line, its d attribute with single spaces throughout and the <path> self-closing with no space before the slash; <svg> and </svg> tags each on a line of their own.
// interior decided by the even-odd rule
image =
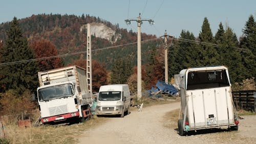
<svg viewBox="0 0 256 144">
<path fill-rule="evenodd" d="M 50 57 L 58 55 L 57 48 L 46 39 L 32 40 L 30 47 L 34 50 L 36 58 Z M 39 61 L 40 71 L 60 68 L 63 66 L 62 59 L 57 58 L 48 58 L 45 60 Z"/>
</svg>

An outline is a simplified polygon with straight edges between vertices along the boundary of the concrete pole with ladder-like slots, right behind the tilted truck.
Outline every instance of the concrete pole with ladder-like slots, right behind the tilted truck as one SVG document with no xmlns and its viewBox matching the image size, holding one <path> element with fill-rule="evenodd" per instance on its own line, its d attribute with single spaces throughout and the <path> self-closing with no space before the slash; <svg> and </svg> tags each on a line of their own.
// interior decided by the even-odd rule
<svg viewBox="0 0 256 144">
<path fill-rule="evenodd" d="M 91 27 L 87 24 L 87 65 L 86 77 L 89 92 L 92 93 L 92 44 L 91 44 Z"/>
</svg>

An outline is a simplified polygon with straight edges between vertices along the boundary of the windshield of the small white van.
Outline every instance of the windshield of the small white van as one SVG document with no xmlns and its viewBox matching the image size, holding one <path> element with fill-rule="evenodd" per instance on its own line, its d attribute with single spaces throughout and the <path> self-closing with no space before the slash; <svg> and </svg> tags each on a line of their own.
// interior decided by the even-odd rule
<svg viewBox="0 0 256 144">
<path fill-rule="evenodd" d="M 120 100 L 121 92 L 118 91 L 108 91 L 108 92 L 99 92 L 98 100 Z"/>
</svg>

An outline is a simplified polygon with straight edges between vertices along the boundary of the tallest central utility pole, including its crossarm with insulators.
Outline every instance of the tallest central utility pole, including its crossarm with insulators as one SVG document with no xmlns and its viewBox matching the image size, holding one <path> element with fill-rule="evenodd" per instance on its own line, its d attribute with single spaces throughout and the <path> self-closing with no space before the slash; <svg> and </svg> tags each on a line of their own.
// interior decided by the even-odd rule
<svg viewBox="0 0 256 144">
<path fill-rule="evenodd" d="M 150 24 L 154 24 L 152 19 L 141 19 L 140 14 L 137 19 L 125 19 L 126 24 L 131 24 L 131 21 L 134 20 L 138 23 L 138 33 L 137 33 L 137 99 L 140 100 L 142 96 L 141 92 L 141 24 L 142 21 L 148 21 Z"/>
</svg>

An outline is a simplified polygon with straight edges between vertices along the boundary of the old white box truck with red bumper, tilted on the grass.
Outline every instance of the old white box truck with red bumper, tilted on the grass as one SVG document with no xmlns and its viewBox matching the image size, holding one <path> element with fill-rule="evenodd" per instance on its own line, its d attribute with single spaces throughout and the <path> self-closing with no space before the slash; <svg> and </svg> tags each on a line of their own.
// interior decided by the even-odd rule
<svg viewBox="0 0 256 144">
<path fill-rule="evenodd" d="M 77 66 L 38 72 L 37 88 L 41 122 L 80 120 L 90 114 L 92 94 L 86 70 Z"/>
</svg>

